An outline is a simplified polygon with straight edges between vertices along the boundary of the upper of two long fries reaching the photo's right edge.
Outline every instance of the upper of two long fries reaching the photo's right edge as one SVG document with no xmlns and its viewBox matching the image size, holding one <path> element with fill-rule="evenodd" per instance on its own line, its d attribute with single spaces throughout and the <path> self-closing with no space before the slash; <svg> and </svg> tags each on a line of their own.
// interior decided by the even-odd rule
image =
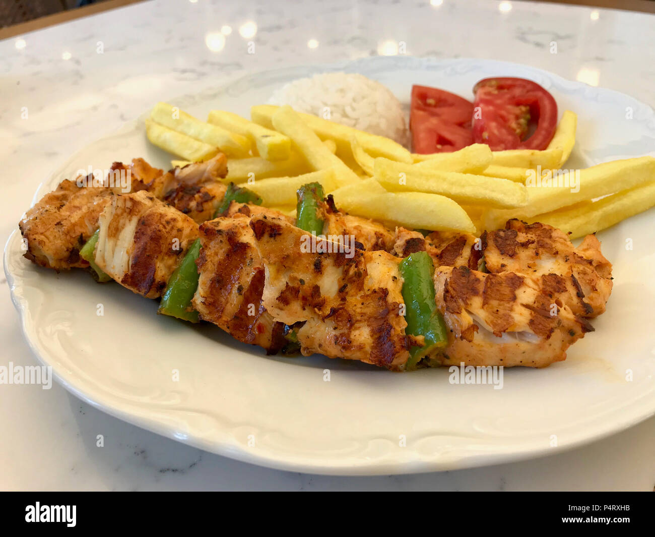
<svg viewBox="0 0 655 537">
<path fill-rule="evenodd" d="M 536 214 L 552 212 L 580 201 L 589 201 L 651 182 L 655 180 L 655 157 L 611 161 L 577 171 L 579 176 L 574 170 L 567 176 L 553 177 L 550 183 L 542 180 L 540 186 L 538 182 L 533 185 L 529 178 L 526 182 L 528 204 L 515 210 L 488 210 L 485 212 L 485 227 L 493 229 L 510 218 L 526 220 Z M 578 179 L 579 184 L 576 186 Z"/>
</svg>

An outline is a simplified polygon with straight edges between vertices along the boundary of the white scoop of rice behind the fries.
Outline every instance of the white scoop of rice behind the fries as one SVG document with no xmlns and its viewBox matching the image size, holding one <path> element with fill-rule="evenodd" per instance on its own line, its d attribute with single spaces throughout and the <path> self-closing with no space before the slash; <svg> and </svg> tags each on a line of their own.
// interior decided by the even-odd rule
<svg viewBox="0 0 655 537">
<path fill-rule="evenodd" d="M 386 136 L 403 146 L 407 142 L 400 101 L 364 75 L 325 73 L 294 80 L 274 92 L 269 104 L 288 104 L 296 111 Z"/>
</svg>

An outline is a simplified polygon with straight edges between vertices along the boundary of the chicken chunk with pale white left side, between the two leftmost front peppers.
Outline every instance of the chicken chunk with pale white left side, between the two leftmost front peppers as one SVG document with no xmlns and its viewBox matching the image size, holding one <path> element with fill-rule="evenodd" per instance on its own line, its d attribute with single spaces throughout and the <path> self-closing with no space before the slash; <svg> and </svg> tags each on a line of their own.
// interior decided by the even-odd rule
<svg viewBox="0 0 655 537">
<path fill-rule="evenodd" d="M 198 237 L 198 224 L 146 191 L 112 197 L 98 224 L 96 263 L 147 298 L 161 296 Z"/>
</svg>

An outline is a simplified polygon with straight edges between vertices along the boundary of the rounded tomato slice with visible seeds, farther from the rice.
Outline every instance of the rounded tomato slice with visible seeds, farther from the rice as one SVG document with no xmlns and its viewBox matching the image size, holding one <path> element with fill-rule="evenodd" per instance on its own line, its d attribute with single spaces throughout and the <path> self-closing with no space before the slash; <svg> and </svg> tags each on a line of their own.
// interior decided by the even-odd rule
<svg viewBox="0 0 655 537">
<path fill-rule="evenodd" d="M 537 83 L 522 78 L 485 78 L 473 92 L 473 140 L 492 151 L 546 149 L 557 127 L 557 103 Z"/>
</svg>

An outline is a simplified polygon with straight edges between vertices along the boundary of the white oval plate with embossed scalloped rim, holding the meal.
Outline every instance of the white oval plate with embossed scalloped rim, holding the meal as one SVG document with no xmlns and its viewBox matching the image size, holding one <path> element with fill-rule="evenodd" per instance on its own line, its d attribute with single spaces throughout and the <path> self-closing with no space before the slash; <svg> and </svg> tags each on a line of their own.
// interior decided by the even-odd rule
<svg viewBox="0 0 655 537">
<path fill-rule="evenodd" d="M 645 104 L 487 60 L 372 58 L 271 71 L 174 104 L 198 117 L 212 108 L 248 115 L 250 105 L 265 102 L 283 83 L 335 70 L 377 79 L 403 102 L 413 83 L 470 97 L 483 77 L 533 79 L 553 93 L 560 111 L 578 113 L 578 144 L 567 167 L 654 154 L 655 117 Z M 630 110 L 632 119 L 626 119 Z M 106 169 L 132 157 L 161 167 L 170 158 L 147 143 L 142 118 L 73 156 L 36 198 L 78 169 Z M 394 374 L 324 357 L 267 357 L 213 325 L 193 327 L 156 315 L 155 301 L 119 285 L 96 285 L 83 271 L 37 268 L 22 258 L 17 231 L 5 249 L 5 271 L 31 349 L 65 388 L 109 414 L 265 466 L 410 473 L 552 453 L 655 413 L 652 226 L 653 213 L 647 212 L 599 233 L 614 264 L 614 291 L 607 313 L 593 323 L 596 332 L 572 346 L 563 363 L 505 370 L 499 390 L 449 384 L 446 369 Z M 632 250 L 626 239 L 632 239 Z M 98 304 L 102 317 L 96 315 Z"/>
</svg>

